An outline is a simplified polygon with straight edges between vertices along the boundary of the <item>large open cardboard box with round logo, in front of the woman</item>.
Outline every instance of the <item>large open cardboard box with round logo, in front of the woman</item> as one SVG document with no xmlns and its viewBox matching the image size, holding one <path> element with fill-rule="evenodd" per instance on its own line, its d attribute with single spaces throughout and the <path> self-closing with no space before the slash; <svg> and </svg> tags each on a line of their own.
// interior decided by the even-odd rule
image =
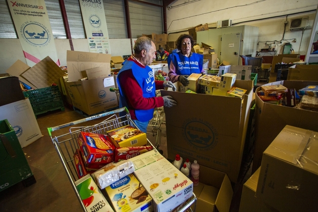
<svg viewBox="0 0 318 212">
<path fill-rule="evenodd" d="M 176 154 L 226 173 L 236 182 L 253 95 L 252 80 L 236 80 L 243 98 L 161 91 L 177 106 L 164 108 L 168 159 Z M 242 101 L 243 100 L 243 101 Z"/>
</svg>

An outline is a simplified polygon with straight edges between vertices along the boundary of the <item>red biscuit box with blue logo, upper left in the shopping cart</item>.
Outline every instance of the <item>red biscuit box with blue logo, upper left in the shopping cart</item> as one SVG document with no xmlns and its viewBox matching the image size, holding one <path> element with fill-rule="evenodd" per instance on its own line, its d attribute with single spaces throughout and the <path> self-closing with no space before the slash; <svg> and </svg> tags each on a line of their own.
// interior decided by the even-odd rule
<svg viewBox="0 0 318 212">
<path fill-rule="evenodd" d="M 80 132 L 78 143 L 87 164 L 108 164 L 114 161 L 115 146 L 106 135 Z"/>
</svg>

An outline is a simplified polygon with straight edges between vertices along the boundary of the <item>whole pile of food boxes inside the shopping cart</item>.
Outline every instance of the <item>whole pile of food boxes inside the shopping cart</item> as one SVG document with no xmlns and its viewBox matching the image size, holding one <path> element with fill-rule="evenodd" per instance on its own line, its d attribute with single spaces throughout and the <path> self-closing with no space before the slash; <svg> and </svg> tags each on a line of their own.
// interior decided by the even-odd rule
<svg viewBox="0 0 318 212">
<path fill-rule="evenodd" d="M 77 141 L 80 148 L 74 162 L 79 180 L 75 184 L 87 211 L 170 212 L 192 196 L 192 181 L 147 145 L 145 133 L 130 125 L 106 135 L 80 132 Z M 150 188 L 144 187 L 149 183 Z M 174 188 L 178 183 L 184 186 Z M 159 197 L 163 188 L 171 189 L 172 195 Z M 165 201 L 169 198 L 175 201 Z"/>
</svg>

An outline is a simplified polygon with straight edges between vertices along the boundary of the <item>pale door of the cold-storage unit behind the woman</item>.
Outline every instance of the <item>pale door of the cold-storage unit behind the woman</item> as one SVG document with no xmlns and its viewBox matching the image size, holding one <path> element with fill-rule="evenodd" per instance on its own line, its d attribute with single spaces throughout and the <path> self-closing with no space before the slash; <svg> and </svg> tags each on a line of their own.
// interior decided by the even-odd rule
<svg viewBox="0 0 318 212">
<path fill-rule="evenodd" d="M 241 33 L 231 33 L 222 35 L 220 63 L 224 60 L 230 65 L 239 65 Z"/>
</svg>

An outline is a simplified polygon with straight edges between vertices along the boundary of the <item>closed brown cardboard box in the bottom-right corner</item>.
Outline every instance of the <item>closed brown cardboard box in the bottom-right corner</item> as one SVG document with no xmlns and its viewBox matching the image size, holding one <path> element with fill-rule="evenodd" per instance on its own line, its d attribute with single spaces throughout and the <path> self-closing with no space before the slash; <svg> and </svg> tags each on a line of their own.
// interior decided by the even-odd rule
<svg viewBox="0 0 318 212">
<path fill-rule="evenodd" d="M 317 137 L 315 131 L 283 128 L 263 153 L 257 198 L 279 212 L 318 211 Z"/>
</svg>

